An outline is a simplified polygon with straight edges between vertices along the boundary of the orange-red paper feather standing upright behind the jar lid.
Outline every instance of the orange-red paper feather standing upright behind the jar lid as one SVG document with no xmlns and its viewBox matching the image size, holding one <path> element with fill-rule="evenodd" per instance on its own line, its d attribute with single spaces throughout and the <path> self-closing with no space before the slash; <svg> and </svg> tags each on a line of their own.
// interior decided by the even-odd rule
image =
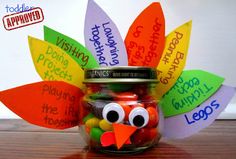
<svg viewBox="0 0 236 159">
<path fill-rule="evenodd" d="M 139 14 L 129 28 L 125 45 L 130 66 L 157 66 L 165 45 L 165 18 L 160 3 L 152 3 Z"/>
</svg>

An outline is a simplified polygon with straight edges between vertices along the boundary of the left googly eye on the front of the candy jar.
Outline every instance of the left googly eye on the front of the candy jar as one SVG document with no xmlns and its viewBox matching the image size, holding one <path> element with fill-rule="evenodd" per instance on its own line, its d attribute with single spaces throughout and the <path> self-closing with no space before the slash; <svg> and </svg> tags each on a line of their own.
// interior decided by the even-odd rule
<svg viewBox="0 0 236 159">
<path fill-rule="evenodd" d="M 109 123 L 120 123 L 125 118 L 125 112 L 121 105 L 117 103 L 109 103 L 103 108 L 102 116 Z"/>
</svg>

